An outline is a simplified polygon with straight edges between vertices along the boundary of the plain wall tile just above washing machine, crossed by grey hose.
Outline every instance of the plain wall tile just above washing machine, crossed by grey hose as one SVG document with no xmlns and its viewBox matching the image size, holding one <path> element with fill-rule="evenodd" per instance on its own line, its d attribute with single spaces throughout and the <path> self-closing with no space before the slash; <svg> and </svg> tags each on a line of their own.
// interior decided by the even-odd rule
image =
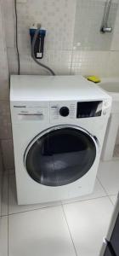
<svg viewBox="0 0 119 256">
<path fill-rule="evenodd" d="M 47 50 L 41 62 L 51 67 L 56 74 L 70 74 L 71 55 L 72 51 L 70 50 Z M 20 55 L 20 73 L 48 74 L 44 68 L 37 65 L 31 55 Z"/>
</svg>

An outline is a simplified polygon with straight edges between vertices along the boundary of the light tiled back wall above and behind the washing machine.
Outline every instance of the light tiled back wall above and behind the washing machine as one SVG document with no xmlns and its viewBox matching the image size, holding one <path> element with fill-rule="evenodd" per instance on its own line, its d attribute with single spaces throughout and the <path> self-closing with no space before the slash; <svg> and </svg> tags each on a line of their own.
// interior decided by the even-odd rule
<svg viewBox="0 0 119 256">
<path fill-rule="evenodd" d="M 32 23 L 39 22 L 47 29 L 42 62 L 52 67 L 55 73 L 81 73 L 85 75 L 94 73 L 100 76 L 118 76 L 118 0 L 112 0 L 113 8 L 110 23 L 113 26 L 113 33 L 102 35 L 99 33 L 99 27 L 102 23 L 105 1 L 17 0 L 20 72 L 47 74 L 31 59 L 28 30 Z M 85 19 L 81 20 L 81 17 L 79 20 L 77 17 L 81 16 L 81 13 L 82 17 L 85 15 Z M 14 0 L 5 1 L 4 14 L 9 17 L 5 20 L 8 67 L 11 73 L 15 73 L 17 71 L 17 58 L 14 50 Z M 93 15 L 92 20 L 90 15 Z M 95 25 L 92 27 L 94 19 Z M 86 26 L 88 26 L 88 30 L 85 32 L 87 36 L 83 38 L 83 29 Z M 78 30 L 78 27 L 81 29 Z M 94 38 L 92 42 L 90 42 L 91 38 Z M 85 44 L 82 44 L 81 47 L 82 39 L 85 39 Z"/>
</svg>

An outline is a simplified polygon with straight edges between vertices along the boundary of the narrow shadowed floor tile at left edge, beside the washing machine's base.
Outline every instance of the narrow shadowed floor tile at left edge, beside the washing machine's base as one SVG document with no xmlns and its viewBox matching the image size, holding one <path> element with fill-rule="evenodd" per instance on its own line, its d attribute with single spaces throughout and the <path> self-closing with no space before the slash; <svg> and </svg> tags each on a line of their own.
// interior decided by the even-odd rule
<svg viewBox="0 0 119 256">
<path fill-rule="evenodd" d="M 8 215 L 8 174 L 3 174 L 2 180 L 2 216 Z"/>
</svg>

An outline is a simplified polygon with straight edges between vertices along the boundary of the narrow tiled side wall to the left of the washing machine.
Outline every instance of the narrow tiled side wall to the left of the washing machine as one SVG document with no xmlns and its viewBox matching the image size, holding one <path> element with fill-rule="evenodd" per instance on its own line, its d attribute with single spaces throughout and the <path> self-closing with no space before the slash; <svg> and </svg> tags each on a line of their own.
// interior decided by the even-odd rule
<svg viewBox="0 0 119 256">
<path fill-rule="evenodd" d="M 11 122 L 9 112 L 9 85 L 8 85 L 8 60 L 6 40 L 4 34 L 4 19 L 3 19 L 3 2 L 0 1 L 0 168 L 2 169 L 1 155 L 5 155 L 5 161 L 8 162 L 6 151 L 3 150 L 3 145 L 11 140 Z M 2 149 L 2 150 L 1 150 Z M 10 155 L 10 150 L 8 150 Z M 12 154 L 13 158 L 13 154 Z"/>
</svg>

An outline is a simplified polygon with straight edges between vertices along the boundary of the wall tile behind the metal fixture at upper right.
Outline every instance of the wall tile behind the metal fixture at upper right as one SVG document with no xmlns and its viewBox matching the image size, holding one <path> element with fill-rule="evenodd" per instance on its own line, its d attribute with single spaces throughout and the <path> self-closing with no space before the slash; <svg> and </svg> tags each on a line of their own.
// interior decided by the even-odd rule
<svg viewBox="0 0 119 256">
<path fill-rule="evenodd" d="M 108 25 L 114 27 L 118 3 L 111 3 Z M 111 33 L 102 33 L 100 28 L 105 12 L 105 2 L 95 0 L 78 0 L 74 30 L 74 47 L 80 50 L 111 49 Z"/>
</svg>

